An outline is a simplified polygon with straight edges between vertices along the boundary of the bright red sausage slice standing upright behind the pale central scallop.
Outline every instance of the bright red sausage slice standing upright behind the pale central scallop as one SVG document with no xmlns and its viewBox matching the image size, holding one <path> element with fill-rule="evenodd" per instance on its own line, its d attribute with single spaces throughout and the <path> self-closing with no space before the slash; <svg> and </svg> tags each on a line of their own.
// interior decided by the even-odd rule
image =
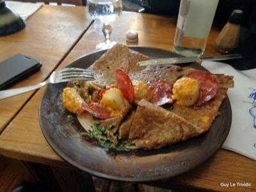
<svg viewBox="0 0 256 192">
<path fill-rule="evenodd" d="M 116 81 L 117 87 L 121 90 L 124 98 L 132 103 L 134 100 L 134 88 L 130 77 L 122 70 L 116 69 Z"/>
</svg>

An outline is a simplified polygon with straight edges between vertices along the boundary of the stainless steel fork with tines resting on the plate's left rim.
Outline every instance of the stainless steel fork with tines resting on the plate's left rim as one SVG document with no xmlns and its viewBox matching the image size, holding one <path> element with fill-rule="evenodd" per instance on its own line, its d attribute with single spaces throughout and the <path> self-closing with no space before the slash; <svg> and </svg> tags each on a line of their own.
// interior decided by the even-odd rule
<svg viewBox="0 0 256 192">
<path fill-rule="evenodd" d="M 31 90 L 36 90 L 45 86 L 49 83 L 62 83 L 67 81 L 83 80 L 83 81 L 93 81 L 92 71 L 83 68 L 63 68 L 61 70 L 56 70 L 52 72 L 51 76 L 42 83 L 38 83 L 31 86 L 24 86 L 22 88 L 15 88 L 10 90 L 0 91 L 0 100 L 14 95 L 19 95 L 21 93 L 29 92 Z"/>
</svg>

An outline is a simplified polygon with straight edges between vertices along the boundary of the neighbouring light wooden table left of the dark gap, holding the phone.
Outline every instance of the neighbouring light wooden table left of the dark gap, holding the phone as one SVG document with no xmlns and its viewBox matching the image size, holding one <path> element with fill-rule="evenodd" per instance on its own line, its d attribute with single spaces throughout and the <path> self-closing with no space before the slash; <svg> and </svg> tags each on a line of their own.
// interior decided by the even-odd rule
<svg viewBox="0 0 256 192">
<path fill-rule="evenodd" d="M 42 62 L 42 68 L 12 88 L 42 82 L 60 63 L 89 26 L 84 7 L 43 6 L 26 21 L 26 28 L 0 40 L 0 61 L 14 54 L 28 54 Z M 19 63 L 17 63 L 19 65 Z M 0 100 L 0 132 L 34 92 Z"/>
</svg>

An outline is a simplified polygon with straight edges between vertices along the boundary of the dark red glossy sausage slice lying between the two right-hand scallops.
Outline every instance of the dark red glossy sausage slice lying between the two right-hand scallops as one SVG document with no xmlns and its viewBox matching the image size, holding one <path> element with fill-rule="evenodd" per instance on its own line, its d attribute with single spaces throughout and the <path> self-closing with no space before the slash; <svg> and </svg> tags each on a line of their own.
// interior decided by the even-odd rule
<svg viewBox="0 0 256 192">
<path fill-rule="evenodd" d="M 148 88 L 152 90 L 151 102 L 157 106 L 162 106 L 172 100 L 172 85 L 166 81 L 150 81 Z"/>
</svg>

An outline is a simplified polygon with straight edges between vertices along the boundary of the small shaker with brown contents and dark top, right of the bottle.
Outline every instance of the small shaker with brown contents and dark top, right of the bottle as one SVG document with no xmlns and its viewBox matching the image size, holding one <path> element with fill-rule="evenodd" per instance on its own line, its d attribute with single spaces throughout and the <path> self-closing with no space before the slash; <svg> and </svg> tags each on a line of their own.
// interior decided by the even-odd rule
<svg viewBox="0 0 256 192">
<path fill-rule="evenodd" d="M 243 11 L 234 10 L 228 18 L 227 24 L 216 38 L 217 49 L 220 52 L 230 52 L 239 43 L 240 23 Z"/>
</svg>

